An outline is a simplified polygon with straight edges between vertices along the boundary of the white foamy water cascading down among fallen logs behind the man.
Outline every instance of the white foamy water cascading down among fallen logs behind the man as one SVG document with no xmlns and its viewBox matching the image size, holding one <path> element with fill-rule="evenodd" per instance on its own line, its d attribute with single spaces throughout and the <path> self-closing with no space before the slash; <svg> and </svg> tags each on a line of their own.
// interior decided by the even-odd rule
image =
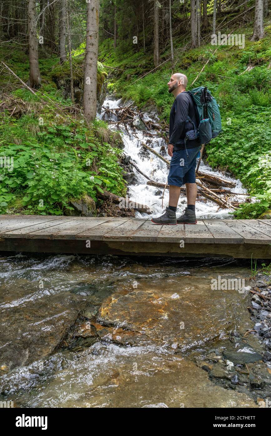
<svg viewBox="0 0 271 436">
<path fill-rule="evenodd" d="M 121 107 L 121 99 L 114 100 L 114 99 L 106 99 L 104 101 L 104 107 L 107 107 L 109 109 L 115 109 Z M 102 119 L 104 115 L 104 112 L 101 112 L 100 114 L 97 114 L 97 116 Z M 144 114 L 143 116 L 144 121 L 150 120 L 150 117 L 147 114 Z M 116 119 L 112 118 L 112 121 L 116 121 Z M 153 120 L 155 122 L 155 120 Z M 131 157 L 131 160 L 137 165 L 137 167 L 148 177 L 150 177 L 151 180 L 160 182 L 160 183 L 167 183 L 167 164 L 163 162 L 159 157 L 155 156 L 151 152 L 145 153 L 144 157 L 140 154 L 140 151 L 142 151 L 141 143 L 146 143 L 148 146 L 153 148 L 157 153 L 160 152 L 161 146 L 165 146 L 167 150 L 167 144 L 164 140 L 164 138 L 161 138 L 160 135 L 157 135 L 156 130 L 150 130 L 150 133 L 157 135 L 157 136 L 149 136 L 145 132 L 142 132 L 141 130 L 138 130 L 134 126 L 129 126 L 127 124 L 127 130 L 124 128 L 123 124 L 117 125 L 119 127 L 116 127 L 115 124 L 111 124 L 109 127 L 110 129 L 117 129 L 119 128 L 122 132 L 122 138 L 123 142 L 125 144 L 124 153 L 129 155 Z M 127 132 L 128 131 L 128 132 Z M 149 156 L 148 156 L 149 155 Z M 168 156 L 167 152 L 164 155 L 167 160 L 171 160 L 171 157 Z M 222 177 L 225 180 L 232 181 L 236 183 L 236 186 L 234 188 L 229 188 L 230 191 L 236 192 L 238 194 L 245 194 L 247 191 L 242 186 L 241 181 L 238 179 L 234 179 L 232 177 L 226 177 L 224 174 L 222 174 L 220 171 L 214 171 L 209 167 L 208 165 L 204 164 L 204 162 L 201 161 L 200 164 L 200 170 L 209 173 L 214 174 L 218 177 Z M 157 217 L 161 215 L 162 211 L 165 209 L 165 207 L 168 205 L 169 201 L 169 191 L 166 189 L 164 191 L 163 188 L 157 188 L 153 186 L 147 185 L 147 179 L 134 168 L 134 172 L 137 177 L 137 183 L 134 185 L 128 185 L 128 195 L 129 198 L 131 198 L 134 201 L 137 201 L 137 203 L 141 204 L 147 204 L 151 211 L 152 215 L 147 214 L 141 214 L 139 212 L 136 212 L 136 216 L 139 218 L 144 217 L 150 217 L 154 216 Z M 227 188 L 223 188 L 227 189 Z M 163 207 L 162 207 L 162 196 L 164 191 L 164 198 L 163 198 Z M 231 197 L 231 201 L 244 201 L 244 198 L 246 198 L 244 195 L 236 195 L 234 197 Z M 186 207 L 186 196 L 184 194 L 181 194 L 180 200 L 178 202 L 177 207 L 177 216 L 180 214 L 184 208 Z M 231 209 L 221 209 L 219 208 L 217 204 L 214 204 L 211 201 L 196 201 L 196 215 L 197 218 L 231 218 L 231 215 L 229 215 L 229 212 L 232 212 Z"/>
</svg>

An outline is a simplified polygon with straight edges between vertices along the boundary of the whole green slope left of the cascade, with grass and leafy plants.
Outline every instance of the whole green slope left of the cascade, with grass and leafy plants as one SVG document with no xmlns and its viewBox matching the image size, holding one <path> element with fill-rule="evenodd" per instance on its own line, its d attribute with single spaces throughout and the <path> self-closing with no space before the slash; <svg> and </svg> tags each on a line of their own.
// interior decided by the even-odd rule
<svg viewBox="0 0 271 436">
<path fill-rule="evenodd" d="M 26 82 L 27 55 L 10 46 L 3 58 Z M 83 74 L 80 64 L 82 58 L 73 59 L 74 78 Z M 53 76 L 69 77 L 68 62 L 60 67 L 57 58 L 42 58 L 40 72 L 43 81 L 36 96 L 4 70 L 0 76 L 5 92 L 0 101 L 5 108 L 0 113 L 0 157 L 10 163 L 13 158 L 13 170 L 0 168 L 0 213 L 61 215 L 71 199 L 96 201 L 101 188 L 125 194 L 118 164 L 120 136 L 101 121 L 87 126 L 80 112 L 76 119 L 70 115 L 71 102 L 52 81 Z M 99 87 L 104 75 L 99 67 Z"/>
</svg>

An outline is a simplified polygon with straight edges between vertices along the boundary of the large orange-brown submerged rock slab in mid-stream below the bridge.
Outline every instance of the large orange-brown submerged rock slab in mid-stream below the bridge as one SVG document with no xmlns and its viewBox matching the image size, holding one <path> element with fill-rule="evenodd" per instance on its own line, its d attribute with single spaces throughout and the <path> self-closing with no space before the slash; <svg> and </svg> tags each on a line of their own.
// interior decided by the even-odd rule
<svg viewBox="0 0 271 436">
<path fill-rule="evenodd" d="M 234 310 L 234 302 L 240 302 L 240 298 L 246 304 L 244 295 L 231 293 L 225 296 L 222 291 L 212 290 L 202 293 L 197 287 L 193 292 L 183 288 L 176 293 L 171 286 L 168 289 L 150 288 L 147 283 L 141 286 L 144 290 L 137 289 L 125 295 L 115 293 L 104 300 L 98 322 L 110 327 L 121 325 L 143 334 L 138 338 L 138 344 L 177 344 L 182 350 L 223 337 L 235 324 L 245 327 L 248 323 L 251 328 L 247 311 L 241 314 L 240 310 Z M 179 298 L 172 298 L 173 295 Z M 219 358 L 221 356 L 217 360 Z"/>
</svg>

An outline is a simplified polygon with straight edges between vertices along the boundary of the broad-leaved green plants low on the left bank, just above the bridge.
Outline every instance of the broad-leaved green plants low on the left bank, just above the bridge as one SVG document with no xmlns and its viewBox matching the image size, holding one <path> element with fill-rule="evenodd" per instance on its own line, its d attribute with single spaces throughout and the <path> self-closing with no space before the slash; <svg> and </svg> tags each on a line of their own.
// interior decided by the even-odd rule
<svg viewBox="0 0 271 436">
<path fill-rule="evenodd" d="M 96 200 L 97 191 L 108 189 L 123 194 L 125 184 L 118 165 L 119 148 L 97 138 L 99 122 L 92 128 L 82 123 L 42 126 L 30 135 L 27 125 L 33 117 L 1 126 L 0 158 L 13 166 L 3 165 L 0 173 L 0 212 L 18 204 L 27 213 L 63 214 L 69 200 L 85 194 Z M 16 144 L 12 138 L 19 138 Z M 110 138 L 110 133 L 109 133 Z"/>
</svg>

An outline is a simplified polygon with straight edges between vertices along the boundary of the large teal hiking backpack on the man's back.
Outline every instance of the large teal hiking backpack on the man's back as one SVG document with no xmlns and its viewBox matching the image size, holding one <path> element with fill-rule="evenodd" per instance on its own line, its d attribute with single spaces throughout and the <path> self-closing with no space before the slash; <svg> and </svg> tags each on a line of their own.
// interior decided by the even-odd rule
<svg viewBox="0 0 271 436">
<path fill-rule="evenodd" d="M 196 136 L 200 137 L 201 144 L 207 144 L 222 130 L 219 106 L 207 87 L 199 86 L 187 92 L 197 108 L 199 126 Z M 192 139 L 190 132 L 187 133 L 187 140 Z"/>
</svg>

